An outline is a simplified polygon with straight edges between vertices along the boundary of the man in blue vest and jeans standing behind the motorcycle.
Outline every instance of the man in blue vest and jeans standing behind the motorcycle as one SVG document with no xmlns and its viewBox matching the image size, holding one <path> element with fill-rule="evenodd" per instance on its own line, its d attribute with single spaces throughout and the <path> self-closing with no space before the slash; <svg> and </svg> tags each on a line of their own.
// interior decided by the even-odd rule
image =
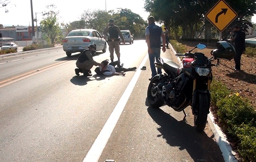
<svg viewBox="0 0 256 162">
<path fill-rule="evenodd" d="M 158 72 L 156 73 L 156 67 L 154 62 L 159 62 L 158 58 L 160 57 L 161 53 L 161 37 L 163 38 L 163 44 L 165 45 L 165 37 L 164 32 L 161 27 L 155 24 L 155 19 L 153 16 L 149 17 L 148 19 L 148 26 L 146 27 L 146 42 L 148 48 L 148 55 L 149 55 L 149 63 L 151 68 L 151 79 L 158 73 L 162 73 L 162 69 L 158 68 Z M 166 51 L 165 46 L 163 46 L 163 52 Z"/>
</svg>

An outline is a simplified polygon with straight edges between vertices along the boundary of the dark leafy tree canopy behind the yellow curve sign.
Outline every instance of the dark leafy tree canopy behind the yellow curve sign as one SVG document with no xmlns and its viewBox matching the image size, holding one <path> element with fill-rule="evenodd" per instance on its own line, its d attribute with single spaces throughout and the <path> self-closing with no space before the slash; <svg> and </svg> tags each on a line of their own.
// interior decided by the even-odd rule
<svg viewBox="0 0 256 162">
<path fill-rule="evenodd" d="M 146 0 L 144 8 L 164 25 L 181 27 L 183 37 L 190 38 L 196 30 L 201 32 L 204 30 L 205 38 L 210 38 L 213 26 L 205 19 L 205 15 L 217 2 L 218 0 Z M 238 18 L 226 29 L 227 34 L 234 24 L 240 25 L 244 30 L 248 25 L 252 26 L 248 17 L 256 13 L 255 0 L 225 0 L 225 2 L 238 14 Z"/>
</svg>

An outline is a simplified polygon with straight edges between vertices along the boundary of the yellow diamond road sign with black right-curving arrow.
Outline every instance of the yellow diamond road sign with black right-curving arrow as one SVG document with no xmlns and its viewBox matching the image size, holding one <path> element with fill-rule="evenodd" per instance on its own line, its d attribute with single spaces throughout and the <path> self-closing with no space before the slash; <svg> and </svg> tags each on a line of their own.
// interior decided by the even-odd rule
<svg viewBox="0 0 256 162">
<path fill-rule="evenodd" d="M 222 32 L 236 19 L 237 13 L 224 0 L 219 0 L 205 16 Z"/>
</svg>

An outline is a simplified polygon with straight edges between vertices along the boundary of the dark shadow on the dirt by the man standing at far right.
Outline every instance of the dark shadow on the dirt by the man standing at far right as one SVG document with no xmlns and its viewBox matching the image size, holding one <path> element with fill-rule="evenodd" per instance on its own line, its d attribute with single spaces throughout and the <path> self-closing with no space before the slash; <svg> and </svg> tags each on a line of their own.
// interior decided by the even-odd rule
<svg viewBox="0 0 256 162">
<path fill-rule="evenodd" d="M 238 79 L 241 81 L 245 81 L 245 82 L 251 83 L 251 84 L 256 83 L 256 75 L 248 74 L 242 70 L 226 74 L 226 76 L 234 78 L 234 79 Z"/>
</svg>

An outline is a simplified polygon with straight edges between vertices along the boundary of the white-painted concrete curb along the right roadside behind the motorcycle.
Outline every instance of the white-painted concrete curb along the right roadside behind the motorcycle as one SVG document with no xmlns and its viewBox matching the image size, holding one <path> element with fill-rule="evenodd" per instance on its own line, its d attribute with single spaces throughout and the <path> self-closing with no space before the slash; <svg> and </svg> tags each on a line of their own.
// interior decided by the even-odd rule
<svg viewBox="0 0 256 162">
<path fill-rule="evenodd" d="M 170 44 L 171 45 L 171 44 Z M 176 51 L 173 49 L 173 46 L 171 46 L 171 50 L 176 54 Z M 182 64 L 179 57 L 176 57 L 178 62 Z M 220 130 L 220 127 L 215 124 L 214 122 L 214 116 L 212 115 L 212 112 L 208 114 L 207 122 L 209 127 L 212 130 L 212 133 L 214 134 L 214 139 L 218 143 L 220 151 L 222 152 L 222 156 L 225 160 L 225 162 L 237 162 L 235 158 L 235 153 L 232 151 L 231 146 L 229 145 L 229 142 L 227 141 L 224 133 Z"/>
</svg>

